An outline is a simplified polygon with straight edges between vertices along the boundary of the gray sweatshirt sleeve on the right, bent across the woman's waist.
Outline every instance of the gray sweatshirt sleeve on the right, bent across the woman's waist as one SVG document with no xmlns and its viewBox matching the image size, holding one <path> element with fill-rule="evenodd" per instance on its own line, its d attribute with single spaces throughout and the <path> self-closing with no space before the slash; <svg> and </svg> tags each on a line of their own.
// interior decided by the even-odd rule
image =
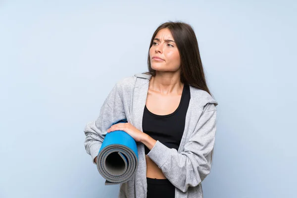
<svg viewBox="0 0 297 198">
<path fill-rule="evenodd" d="M 214 103 L 204 105 L 195 131 L 181 153 L 159 141 L 148 152 L 148 157 L 158 165 L 165 177 L 182 192 L 198 186 L 210 173 L 216 113 Z"/>
</svg>

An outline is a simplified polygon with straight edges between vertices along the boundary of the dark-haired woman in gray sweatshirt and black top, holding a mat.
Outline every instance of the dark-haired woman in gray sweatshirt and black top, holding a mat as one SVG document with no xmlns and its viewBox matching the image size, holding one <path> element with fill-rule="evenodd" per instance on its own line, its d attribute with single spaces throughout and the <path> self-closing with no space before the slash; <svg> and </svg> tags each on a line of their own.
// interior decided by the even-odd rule
<svg viewBox="0 0 297 198">
<path fill-rule="evenodd" d="M 118 81 L 99 118 L 85 128 L 96 164 L 106 133 L 122 130 L 137 142 L 139 166 L 119 198 L 202 198 L 216 133 L 216 105 L 189 24 L 166 22 L 154 32 L 148 72 Z M 115 121 L 127 119 L 128 123 Z"/>
</svg>

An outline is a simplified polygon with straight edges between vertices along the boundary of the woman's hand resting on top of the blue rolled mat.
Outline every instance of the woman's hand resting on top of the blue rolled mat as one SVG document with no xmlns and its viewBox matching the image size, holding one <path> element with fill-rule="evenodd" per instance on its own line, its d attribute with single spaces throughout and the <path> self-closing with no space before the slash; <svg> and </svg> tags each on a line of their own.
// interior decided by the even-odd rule
<svg viewBox="0 0 297 198">
<path fill-rule="evenodd" d="M 145 133 L 141 132 L 137 128 L 135 128 L 129 122 L 126 123 L 117 123 L 112 125 L 109 129 L 107 129 L 107 133 L 112 131 L 124 131 L 129 134 L 136 142 L 141 142 L 145 138 Z"/>
</svg>

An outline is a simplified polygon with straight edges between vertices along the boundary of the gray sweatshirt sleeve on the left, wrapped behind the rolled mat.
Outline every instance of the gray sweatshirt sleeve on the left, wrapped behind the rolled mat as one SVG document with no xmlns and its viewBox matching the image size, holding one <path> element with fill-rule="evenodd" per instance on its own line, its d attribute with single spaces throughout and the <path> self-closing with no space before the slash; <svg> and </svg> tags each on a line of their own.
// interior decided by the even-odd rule
<svg viewBox="0 0 297 198">
<path fill-rule="evenodd" d="M 87 123 L 84 129 L 85 149 L 91 155 L 94 164 L 96 164 L 94 159 L 99 154 L 99 149 L 107 133 L 106 130 L 113 123 L 122 119 L 126 119 L 126 115 L 117 83 L 104 100 L 97 120 Z"/>
</svg>

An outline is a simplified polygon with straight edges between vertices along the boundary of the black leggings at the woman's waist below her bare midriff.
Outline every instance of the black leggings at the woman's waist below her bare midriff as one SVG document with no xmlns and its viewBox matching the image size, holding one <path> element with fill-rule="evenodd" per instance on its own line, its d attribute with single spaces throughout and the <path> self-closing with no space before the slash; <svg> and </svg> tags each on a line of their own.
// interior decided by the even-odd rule
<svg viewBox="0 0 297 198">
<path fill-rule="evenodd" d="M 175 187 L 168 179 L 152 179 L 147 177 L 147 198 L 174 198 Z"/>
</svg>

